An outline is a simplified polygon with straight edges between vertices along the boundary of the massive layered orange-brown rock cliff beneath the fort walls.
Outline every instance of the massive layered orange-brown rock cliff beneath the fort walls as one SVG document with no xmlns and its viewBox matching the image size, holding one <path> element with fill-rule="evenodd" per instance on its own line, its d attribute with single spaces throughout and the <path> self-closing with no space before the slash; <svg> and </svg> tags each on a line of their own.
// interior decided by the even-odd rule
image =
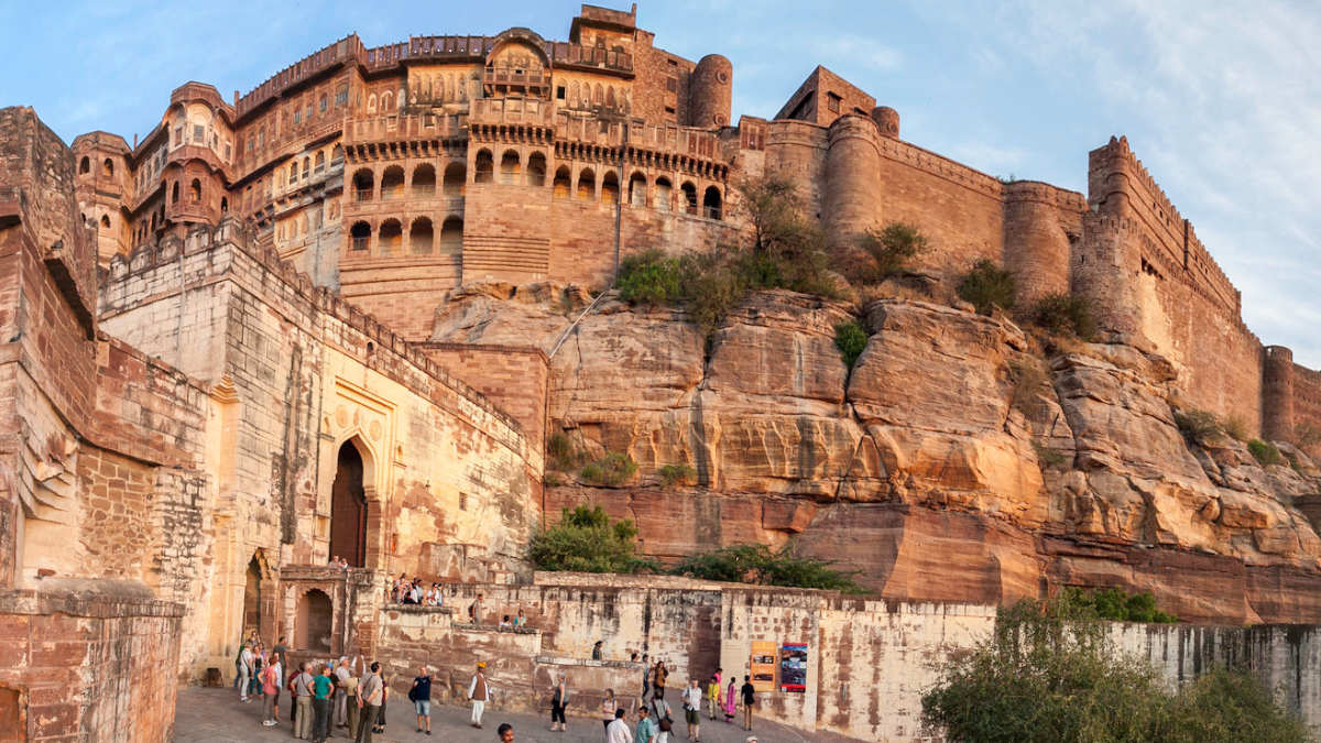
<svg viewBox="0 0 1321 743">
<path fill-rule="evenodd" d="M 1151 590 L 1189 620 L 1321 621 L 1321 472 L 1262 468 L 1226 436 L 1189 444 L 1176 372 L 1124 345 L 1049 361 L 1013 323 L 882 300 L 852 370 L 841 303 L 765 292 L 703 338 L 680 311 L 551 284 L 457 290 L 435 340 L 552 357 L 560 446 L 547 512 L 598 502 L 643 551 L 797 538 L 885 598 L 1009 602 L 1055 586 Z M 626 452 L 592 487 L 577 463 Z M 660 471 L 674 465 L 678 484 Z M 1304 509 L 1304 510 L 1300 510 Z"/>
</svg>

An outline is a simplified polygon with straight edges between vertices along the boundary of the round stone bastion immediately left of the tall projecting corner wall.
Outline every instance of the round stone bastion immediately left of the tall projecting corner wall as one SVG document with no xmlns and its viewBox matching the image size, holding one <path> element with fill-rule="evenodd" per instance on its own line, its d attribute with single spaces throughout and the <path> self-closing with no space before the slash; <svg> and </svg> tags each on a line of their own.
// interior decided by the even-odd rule
<svg viewBox="0 0 1321 743">
<path fill-rule="evenodd" d="M 1059 225 L 1055 189 L 1036 181 L 1004 186 L 1004 266 L 1013 274 L 1015 303 L 1029 307 L 1069 291 L 1069 235 Z"/>
</svg>

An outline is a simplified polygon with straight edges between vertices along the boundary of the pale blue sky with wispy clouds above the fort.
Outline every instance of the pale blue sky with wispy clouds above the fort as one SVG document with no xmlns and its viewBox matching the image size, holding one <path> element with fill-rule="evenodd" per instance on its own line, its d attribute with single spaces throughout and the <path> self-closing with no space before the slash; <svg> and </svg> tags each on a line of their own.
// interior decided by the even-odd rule
<svg viewBox="0 0 1321 743">
<path fill-rule="evenodd" d="M 24 5 L 0 4 L 0 104 L 34 106 L 66 140 L 100 128 L 129 141 L 180 83 L 227 98 L 351 30 L 369 46 L 514 25 L 563 40 L 579 8 Z M 1248 325 L 1321 368 L 1321 5 L 651 0 L 638 22 L 671 52 L 733 61 L 734 120 L 773 115 L 822 63 L 898 110 L 904 139 L 992 175 L 1085 192 L 1087 151 L 1127 135 L 1243 292 Z"/>
</svg>

